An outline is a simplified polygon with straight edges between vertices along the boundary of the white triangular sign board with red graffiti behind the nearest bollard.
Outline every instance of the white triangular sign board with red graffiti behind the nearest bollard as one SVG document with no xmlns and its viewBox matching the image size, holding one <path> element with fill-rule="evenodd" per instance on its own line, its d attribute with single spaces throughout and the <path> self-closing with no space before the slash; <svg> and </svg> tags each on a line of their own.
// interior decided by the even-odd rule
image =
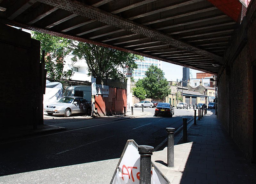
<svg viewBox="0 0 256 184">
<path fill-rule="evenodd" d="M 151 162 L 151 184 L 170 184 Z M 127 140 L 110 184 L 140 184 L 140 154 L 134 140 Z"/>
</svg>

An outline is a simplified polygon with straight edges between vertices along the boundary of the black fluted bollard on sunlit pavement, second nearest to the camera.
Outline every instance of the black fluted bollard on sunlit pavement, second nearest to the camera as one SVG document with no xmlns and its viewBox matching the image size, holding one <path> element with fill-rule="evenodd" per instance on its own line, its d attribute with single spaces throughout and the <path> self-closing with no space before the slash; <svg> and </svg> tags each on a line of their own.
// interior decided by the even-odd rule
<svg viewBox="0 0 256 184">
<path fill-rule="evenodd" d="M 174 166 L 174 132 L 175 128 L 166 128 L 166 132 L 168 134 L 167 141 L 167 166 Z"/>
</svg>

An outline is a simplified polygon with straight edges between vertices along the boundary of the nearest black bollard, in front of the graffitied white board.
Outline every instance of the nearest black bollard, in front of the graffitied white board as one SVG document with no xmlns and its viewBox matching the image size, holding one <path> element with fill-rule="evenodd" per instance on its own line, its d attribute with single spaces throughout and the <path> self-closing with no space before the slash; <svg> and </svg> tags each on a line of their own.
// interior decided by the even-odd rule
<svg viewBox="0 0 256 184">
<path fill-rule="evenodd" d="M 140 184 L 151 184 L 151 155 L 154 147 L 141 145 L 138 146 L 140 154 Z"/>
</svg>

